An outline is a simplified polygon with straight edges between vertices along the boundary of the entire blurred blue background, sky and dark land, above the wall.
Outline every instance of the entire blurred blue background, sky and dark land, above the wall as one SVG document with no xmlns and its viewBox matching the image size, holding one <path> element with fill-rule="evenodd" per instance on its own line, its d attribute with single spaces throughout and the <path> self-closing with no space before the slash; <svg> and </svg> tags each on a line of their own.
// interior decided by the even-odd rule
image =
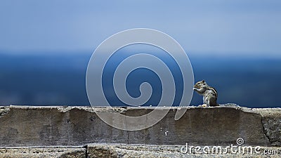
<svg viewBox="0 0 281 158">
<path fill-rule="evenodd" d="M 86 67 L 95 48 L 145 27 L 183 46 L 195 81 L 216 88 L 218 103 L 281 106 L 278 0 L 1 0 L 0 22 L 0 105 L 89 105 Z M 194 93 L 190 105 L 199 104 Z"/>
</svg>

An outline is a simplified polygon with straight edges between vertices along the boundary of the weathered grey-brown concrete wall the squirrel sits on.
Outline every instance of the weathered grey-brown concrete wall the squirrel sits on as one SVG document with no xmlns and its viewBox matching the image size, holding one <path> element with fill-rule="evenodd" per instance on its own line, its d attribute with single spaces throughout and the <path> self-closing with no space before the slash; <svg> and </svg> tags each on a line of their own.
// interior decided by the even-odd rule
<svg viewBox="0 0 281 158">
<path fill-rule="evenodd" d="M 167 108 L 167 107 L 163 107 Z M 97 107 L 0 107 L 0 147 L 84 146 L 89 143 L 145 145 L 244 145 L 280 146 L 281 110 L 249 109 L 234 105 L 185 107 L 174 120 L 176 107 L 148 129 L 122 131 L 105 124 Z M 116 109 L 116 108 L 115 108 Z M 148 113 L 152 107 L 122 108 L 124 114 Z M 165 133 L 166 132 L 166 133 Z"/>
</svg>

